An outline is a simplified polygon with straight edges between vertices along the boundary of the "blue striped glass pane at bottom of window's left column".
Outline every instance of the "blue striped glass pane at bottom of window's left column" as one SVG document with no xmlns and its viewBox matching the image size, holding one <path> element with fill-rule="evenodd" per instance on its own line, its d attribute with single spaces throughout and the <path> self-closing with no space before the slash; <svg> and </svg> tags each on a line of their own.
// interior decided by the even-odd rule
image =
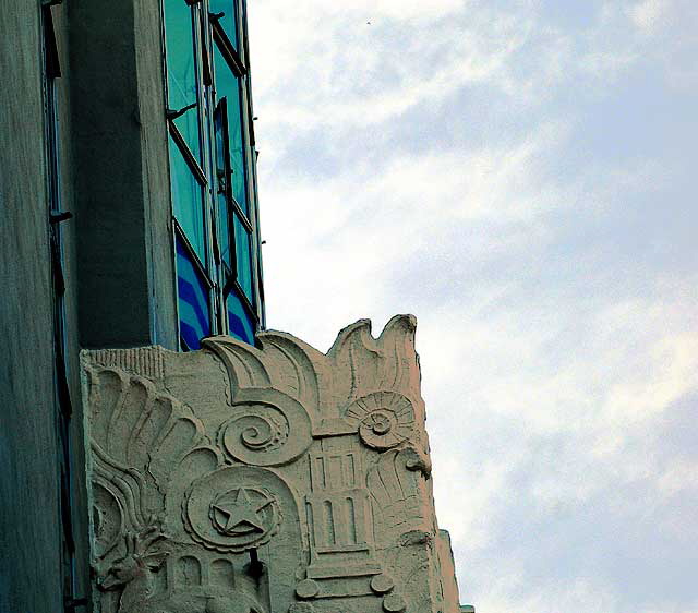
<svg viewBox="0 0 698 613">
<path fill-rule="evenodd" d="M 186 248 L 177 239 L 177 293 L 179 334 L 190 349 L 200 349 L 201 339 L 210 335 L 208 288 L 191 261 Z"/>
</svg>

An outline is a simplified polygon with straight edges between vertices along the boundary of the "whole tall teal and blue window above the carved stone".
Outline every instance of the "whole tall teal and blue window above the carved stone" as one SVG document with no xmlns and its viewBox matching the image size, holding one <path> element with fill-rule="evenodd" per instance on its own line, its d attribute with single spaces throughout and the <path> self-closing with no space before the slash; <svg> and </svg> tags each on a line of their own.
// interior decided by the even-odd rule
<svg viewBox="0 0 698 613">
<path fill-rule="evenodd" d="M 164 0 L 180 346 L 264 324 L 241 0 Z"/>
</svg>

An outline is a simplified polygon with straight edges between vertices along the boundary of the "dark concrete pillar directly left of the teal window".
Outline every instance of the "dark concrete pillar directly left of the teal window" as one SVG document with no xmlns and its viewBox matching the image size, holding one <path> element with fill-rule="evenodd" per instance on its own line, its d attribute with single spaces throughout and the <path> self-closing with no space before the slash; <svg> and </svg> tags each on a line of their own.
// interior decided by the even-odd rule
<svg viewBox="0 0 698 613">
<path fill-rule="evenodd" d="M 71 0 L 80 340 L 177 348 L 157 2 Z"/>
</svg>

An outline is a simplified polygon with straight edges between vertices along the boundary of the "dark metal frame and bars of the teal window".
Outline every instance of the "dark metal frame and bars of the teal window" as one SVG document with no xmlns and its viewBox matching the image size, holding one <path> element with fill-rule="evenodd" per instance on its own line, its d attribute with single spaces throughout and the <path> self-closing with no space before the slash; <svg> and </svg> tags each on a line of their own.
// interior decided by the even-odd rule
<svg viewBox="0 0 698 613">
<path fill-rule="evenodd" d="M 161 0 L 160 9 L 163 12 L 163 64 L 165 73 L 165 100 L 166 107 L 169 101 L 169 75 L 167 72 L 167 26 L 165 20 L 165 12 L 167 10 L 166 3 L 176 0 Z M 221 14 L 214 14 L 208 11 L 208 0 L 181 0 L 191 9 L 192 32 L 193 32 L 193 46 L 192 53 L 194 55 L 193 61 L 195 64 L 194 72 L 196 79 L 196 104 L 191 108 L 184 107 L 184 109 L 167 109 L 167 128 L 168 139 L 172 139 L 177 149 L 181 153 L 186 163 L 188 168 L 194 176 L 197 183 L 203 190 L 202 207 L 204 216 L 204 252 L 205 256 L 203 262 L 193 245 L 186 232 L 174 215 L 173 200 L 170 199 L 171 220 L 172 220 L 172 254 L 176 254 L 177 240 L 185 247 L 189 257 L 195 263 L 196 269 L 201 273 L 202 277 L 206 280 L 206 286 L 209 289 L 209 317 L 210 317 L 210 332 L 212 334 L 226 334 L 230 333 L 229 329 L 229 315 L 228 315 L 228 296 L 234 292 L 236 297 L 243 305 L 243 310 L 249 321 L 249 325 L 253 328 L 253 334 L 256 335 L 264 326 L 264 290 L 261 287 L 262 274 L 260 271 L 261 255 L 260 255 L 260 230 L 257 224 L 257 193 L 256 193 L 256 151 L 254 149 L 254 131 L 252 127 L 252 106 L 250 95 L 249 83 L 249 70 L 245 63 L 248 57 L 248 38 L 246 38 L 246 23 L 242 23 L 246 15 L 244 0 L 229 0 L 229 4 L 232 10 L 236 11 L 234 19 L 232 20 L 237 27 L 237 39 L 239 41 L 240 49 L 237 50 L 222 25 L 219 22 Z M 228 243 L 230 249 L 230 266 L 224 262 L 220 253 L 220 237 L 219 229 L 220 224 L 218 219 L 219 203 L 218 203 L 218 168 L 217 168 L 217 154 L 216 154 L 216 112 L 220 99 L 216 95 L 216 62 L 214 61 L 214 46 L 220 52 L 224 58 L 227 68 L 232 74 L 239 79 L 238 96 L 240 108 L 240 133 L 242 139 L 242 164 L 245 182 L 245 199 L 246 208 L 249 213 L 245 213 L 242 203 L 238 203 L 233 194 L 232 189 L 232 172 L 230 161 L 230 123 L 229 117 L 226 117 L 226 146 L 227 146 L 227 194 L 226 204 L 228 213 Z M 229 112 L 229 107 L 226 109 Z M 193 152 L 186 144 L 184 135 L 181 133 L 174 119 L 183 115 L 183 112 L 195 112 L 197 116 L 200 127 L 200 146 L 201 146 L 201 160 L 194 156 Z M 177 115 L 176 115 L 177 113 Z M 168 149 L 168 156 L 169 154 Z M 171 163 L 170 163 L 171 166 Z M 172 184 L 172 169 L 170 172 L 170 185 Z M 243 231 L 248 235 L 248 244 L 250 254 L 248 257 L 250 266 L 250 281 L 251 281 L 251 297 L 248 297 L 243 290 L 239 275 L 239 253 L 237 251 L 236 241 L 236 219 L 241 224 Z M 177 257 L 174 257 L 174 273 L 179 274 L 177 269 Z M 180 322 L 180 304 L 179 304 L 179 291 L 177 284 L 174 284 L 176 291 L 176 313 L 178 328 L 181 325 Z M 180 350 L 188 350 L 181 338 L 181 330 L 178 334 Z"/>
</svg>

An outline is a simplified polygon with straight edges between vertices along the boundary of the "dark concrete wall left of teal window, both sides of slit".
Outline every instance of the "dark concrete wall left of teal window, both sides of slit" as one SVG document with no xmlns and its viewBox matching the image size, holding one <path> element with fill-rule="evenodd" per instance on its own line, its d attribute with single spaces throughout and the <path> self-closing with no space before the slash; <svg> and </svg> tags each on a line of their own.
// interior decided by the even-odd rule
<svg viewBox="0 0 698 613">
<path fill-rule="evenodd" d="M 88 597 L 82 346 L 177 347 L 157 2 L 51 9 L 57 80 L 67 375 L 72 399 L 73 596 Z M 0 3 L 0 611 L 63 611 L 48 239 L 41 10 Z M 81 611 L 84 609 L 77 609 Z"/>
</svg>

